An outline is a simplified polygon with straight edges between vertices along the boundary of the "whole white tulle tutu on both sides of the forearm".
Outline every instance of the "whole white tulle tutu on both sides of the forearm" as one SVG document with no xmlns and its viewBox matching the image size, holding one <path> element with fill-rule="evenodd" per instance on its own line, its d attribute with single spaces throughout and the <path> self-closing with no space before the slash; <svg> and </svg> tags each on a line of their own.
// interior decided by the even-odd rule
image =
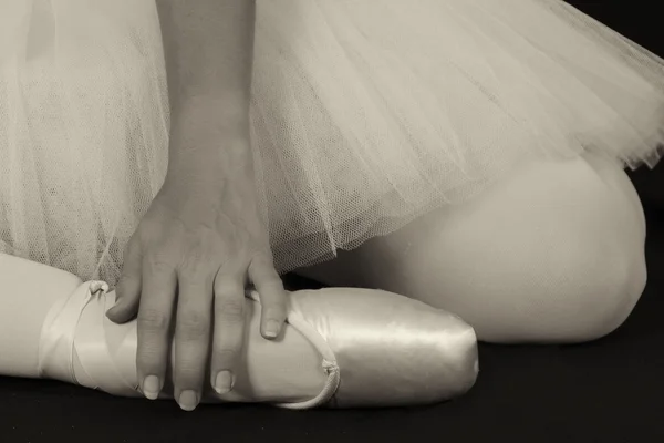
<svg viewBox="0 0 664 443">
<path fill-rule="evenodd" d="M 560 0 L 258 0 L 256 32 L 280 271 L 523 158 L 654 166 L 664 142 L 664 61 Z M 0 0 L 0 251 L 115 284 L 166 172 L 165 75 L 154 0 Z"/>
</svg>

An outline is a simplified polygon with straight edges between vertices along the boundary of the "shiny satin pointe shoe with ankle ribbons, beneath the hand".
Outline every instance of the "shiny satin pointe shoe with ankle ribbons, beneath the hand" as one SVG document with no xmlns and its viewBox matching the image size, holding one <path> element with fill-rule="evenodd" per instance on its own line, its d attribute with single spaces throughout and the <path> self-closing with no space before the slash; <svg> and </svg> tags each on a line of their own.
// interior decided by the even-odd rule
<svg viewBox="0 0 664 443">
<path fill-rule="evenodd" d="M 33 277 L 40 279 L 39 272 Z M 61 289 L 49 282 L 43 287 Z M 40 375 L 116 395 L 141 396 L 136 322 L 118 326 L 106 319 L 115 297 L 103 281 L 82 282 L 73 292 L 69 286 L 62 289 L 65 292 L 42 329 Z M 238 374 L 243 380 L 229 394 L 207 392 L 204 402 L 261 401 L 288 409 L 407 406 L 450 400 L 476 381 L 475 331 L 454 315 L 370 289 L 302 290 L 290 292 L 289 300 L 283 337 L 269 341 L 259 333 L 258 293 L 247 291 L 242 364 L 249 369 Z M 297 337 L 300 342 L 292 340 Z M 271 377 L 269 364 L 257 363 L 264 360 L 263 351 L 293 346 L 290 351 L 295 354 L 318 359 L 323 381 L 318 395 L 293 401 L 293 387 L 283 385 L 282 392 L 268 400 L 253 398 L 252 387 Z M 298 374 L 291 378 L 298 380 Z"/>
</svg>

